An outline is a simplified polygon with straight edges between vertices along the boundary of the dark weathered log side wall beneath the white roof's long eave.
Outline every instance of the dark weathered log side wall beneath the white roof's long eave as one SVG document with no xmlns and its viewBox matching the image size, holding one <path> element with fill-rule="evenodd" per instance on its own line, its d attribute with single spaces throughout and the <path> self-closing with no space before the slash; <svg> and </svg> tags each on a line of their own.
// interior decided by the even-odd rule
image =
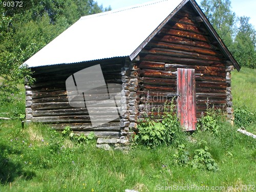
<svg viewBox="0 0 256 192">
<path fill-rule="evenodd" d="M 93 131 L 97 137 L 120 138 L 121 118 L 92 128 L 88 110 L 71 107 L 67 97 L 66 79 L 82 69 L 99 63 L 105 82 L 118 83 L 121 87 L 120 72 L 124 65 L 123 58 L 32 68 L 36 81 L 33 85 L 25 86 L 27 122 L 51 123 L 57 130 L 70 126 L 75 133 L 82 131 L 84 134 L 89 134 Z M 99 94 L 100 90 L 95 101 L 101 102 L 99 100 L 105 98 L 100 98 Z M 104 101 L 102 107 L 105 107 Z M 108 119 L 108 114 L 102 118 Z"/>
</svg>

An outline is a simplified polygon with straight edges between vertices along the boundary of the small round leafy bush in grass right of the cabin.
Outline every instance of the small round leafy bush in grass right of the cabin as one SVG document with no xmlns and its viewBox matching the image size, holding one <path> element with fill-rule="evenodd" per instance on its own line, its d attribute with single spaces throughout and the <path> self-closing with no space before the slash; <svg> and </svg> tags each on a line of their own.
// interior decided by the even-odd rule
<svg viewBox="0 0 256 192">
<path fill-rule="evenodd" d="M 255 115 L 246 106 L 234 109 L 234 123 L 238 126 L 249 126 L 255 121 Z"/>
</svg>

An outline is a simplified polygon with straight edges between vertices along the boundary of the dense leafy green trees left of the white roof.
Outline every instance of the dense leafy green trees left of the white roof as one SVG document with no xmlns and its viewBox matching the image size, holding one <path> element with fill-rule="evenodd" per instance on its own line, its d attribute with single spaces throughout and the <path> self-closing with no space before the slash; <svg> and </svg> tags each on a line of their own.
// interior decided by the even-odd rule
<svg viewBox="0 0 256 192">
<path fill-rule="evenodd" d="M 10 101 L 29 77 L 22 63 L 81 16 L 102 12 L 93 0 L 26 0 L 24 7 L 0 6 L 0 103 Z M 108 9 L 105 9 L 108 10 Z"/>
</svg>

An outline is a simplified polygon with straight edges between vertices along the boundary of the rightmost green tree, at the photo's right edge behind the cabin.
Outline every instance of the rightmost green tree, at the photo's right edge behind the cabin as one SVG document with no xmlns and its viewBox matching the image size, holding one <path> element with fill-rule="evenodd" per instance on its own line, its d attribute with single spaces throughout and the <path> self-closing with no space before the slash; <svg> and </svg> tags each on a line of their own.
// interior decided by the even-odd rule
<svg viewBox="0 0 256 192">
<path fill-rule="evenodd" d="M 239 18 L 240 27 L 232 50 L 241 66 L 256 68 L 256 32 L 249 19 L 246 16 Z"/>
</svg>

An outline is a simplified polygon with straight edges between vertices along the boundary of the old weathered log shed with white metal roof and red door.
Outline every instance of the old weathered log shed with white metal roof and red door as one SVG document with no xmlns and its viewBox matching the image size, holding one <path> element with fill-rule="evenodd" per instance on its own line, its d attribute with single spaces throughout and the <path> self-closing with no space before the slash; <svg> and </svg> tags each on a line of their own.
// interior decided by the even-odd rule
<svg viewBox="0 0 256 192">
<path fill-rule="evenodd" d="M 137 129 L 145 102 L 162 113 L 161 106 L 174 95 L 187 131 L 196 129 L 206 102 L 233 120 L 231 71 L 240 66 L 194 0 L 151 2 L 81 17 L 25 64 L 36 79 L 25 86 L 27 122 L 120 138 Z M 92 126 L 87 108 L 70 105 L 65 82 L 95 65 L 106 84 L 120 85 L 121 110 L 113 116 L 116 109 L 108 105 L 104 89 L 96 89 L 87 101 L 97 103 L 93 112 L 102 123 Z"/>
</svg>

